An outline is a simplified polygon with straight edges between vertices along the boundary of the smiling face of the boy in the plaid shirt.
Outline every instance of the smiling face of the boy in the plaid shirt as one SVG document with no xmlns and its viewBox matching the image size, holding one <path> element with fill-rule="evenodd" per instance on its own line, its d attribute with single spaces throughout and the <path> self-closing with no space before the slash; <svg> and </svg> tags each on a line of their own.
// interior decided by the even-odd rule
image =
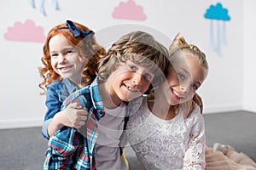
<svg viewBox="0 0 256 170">
<path fill-rule="evenodd" d="M 144 94 L 153 78 L 154 73 L 146 67 L 126 61 L 110 74 L 105 87 L 113 103 L 119 105 L 122 101 L 131 101 Z"/>
</svg>

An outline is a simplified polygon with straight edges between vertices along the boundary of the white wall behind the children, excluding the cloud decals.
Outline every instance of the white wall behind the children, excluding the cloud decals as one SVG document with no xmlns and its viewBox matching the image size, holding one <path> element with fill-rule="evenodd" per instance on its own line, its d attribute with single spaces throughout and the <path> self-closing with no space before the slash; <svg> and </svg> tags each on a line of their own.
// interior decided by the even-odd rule
<svg viewBox="0 0 256 170">
<path fill-rule="evenodd" d="M 204 100 L 205 113 L 241 109 L 256 111 L 252 95 L 256 83 L 253 78 L 255 66 L 251 62 L 255 60 L 251 47 L 256 35 L 253 32 L 256 30 L 253 29 L 253 0 L 220 2 L 229 9 L 231 17 L 225 24 L 227 44 L 221 46 L 220 55 L 210 47 L 210 20 L 204 18 L 207 8 L 219 1 L 148 0 L 145 3 L 135 0 L 137 5 L 143 6 L 147 15 L 147 20 L 143 21 L 113 19 L 113 8 L 122 2 L 119 0 L 59 1 L 59 11 L 53 8 L 51 2 L 45 1 L 44 4 L 47 16 L 39 13 L 39 0 L 35 0 L 37 8 L 32 8 L 28 0 L 0 3 L 3 15 L 0 19 L 0 128 L 40 126 L 43 122 L 44 96 L 39 95 L 38 88 L 38 82 L 42 81 L 38 66 L 41 66 L 43 43 L 7 41 L 2 36 L 15 22 L 26 20 L 33 20 L 37 26 L 44 27 L 45 36 L 52 26 L 67 19 L 81 22 L 96 31 L 98 42 L 106 48 L 121 34 L 136 29 L 149 31 L 166 47 L 177 32 L 181 32 L 188 42 L 197 44 L 207 54 L 210 72 L 199 91 Z M 250 10 L 247 11 L 247 8 Z M 106 32 L 110 33 L 106 36 Z M 243 34 L 246 36 L 243 37 Z"/>
</svg>

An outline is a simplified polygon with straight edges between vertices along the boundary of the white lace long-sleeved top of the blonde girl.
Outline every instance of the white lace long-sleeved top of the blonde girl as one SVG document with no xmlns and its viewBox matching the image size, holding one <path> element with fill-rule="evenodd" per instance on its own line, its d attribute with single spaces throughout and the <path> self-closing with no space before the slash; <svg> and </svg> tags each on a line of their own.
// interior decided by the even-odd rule
<svg viewBox="0 0 256 170">
<path fill-rule="evenodd" d="M 149 111 L 144 98 L 130 117 L 125 139 L 145 169 L 205 168 L 205 124 L 198 106 L 187 119 L 179 108 L 178 115 L 166 121 Z"/>
</svg>

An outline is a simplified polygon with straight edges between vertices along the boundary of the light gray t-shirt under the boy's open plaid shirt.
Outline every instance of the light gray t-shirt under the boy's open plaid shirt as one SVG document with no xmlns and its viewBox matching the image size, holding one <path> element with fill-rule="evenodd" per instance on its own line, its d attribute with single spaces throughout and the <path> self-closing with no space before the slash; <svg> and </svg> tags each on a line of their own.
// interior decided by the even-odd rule
<svg viewBox="0 0 256 170">
<path fill-rule="evenodd" d="M 125 103 L 115 109 L 105 108 L 105 116 L 99 121 L 99 136 L 96 139 L 97 170 L 128 170 L 120 156 L 119 138 L 123 133 Z"/>
</svg>

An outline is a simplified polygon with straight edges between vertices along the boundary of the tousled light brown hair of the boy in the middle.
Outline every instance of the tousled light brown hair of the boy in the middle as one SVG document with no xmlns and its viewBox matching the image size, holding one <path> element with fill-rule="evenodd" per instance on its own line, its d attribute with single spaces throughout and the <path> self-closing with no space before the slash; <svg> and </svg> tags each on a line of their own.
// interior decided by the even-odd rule
<svg viewBox="0 0 256 170">
<path fill-rule="evenodd" d="M 154 77 L 157 77 L 169 66 L 167 56 L 168 50 L 150 34 L 133 31 L 114 42 L 104 58 L 100 59 L 98 77 L 100 81 L 105 81 L 119 63 L 125 63 L 127 60 L 147 67 L 155 73 Z M 152 84 L 157 82 L 157 78 L 154 78 Z"/>
</svg>

